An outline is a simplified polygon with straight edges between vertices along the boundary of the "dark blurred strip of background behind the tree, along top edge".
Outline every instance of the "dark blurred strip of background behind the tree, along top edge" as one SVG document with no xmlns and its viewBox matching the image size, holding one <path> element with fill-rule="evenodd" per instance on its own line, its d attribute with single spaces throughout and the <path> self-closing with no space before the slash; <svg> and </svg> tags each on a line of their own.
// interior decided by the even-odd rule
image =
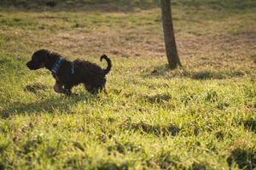
<svg viewBox="0 0 256 170">
<path fill-rule="evenodd" d="M 99 9 L 132 9 L 156 8 L 159 0 L 1 0 L 2 8 L 24 9 L 81 9 L 99 7 Z M 189 6 L 189 8 L 256 8 L 255 0 L 172 0 L 173 5 Z M 100 8 L 101 7 L 101 8 Z"/>
</svg>

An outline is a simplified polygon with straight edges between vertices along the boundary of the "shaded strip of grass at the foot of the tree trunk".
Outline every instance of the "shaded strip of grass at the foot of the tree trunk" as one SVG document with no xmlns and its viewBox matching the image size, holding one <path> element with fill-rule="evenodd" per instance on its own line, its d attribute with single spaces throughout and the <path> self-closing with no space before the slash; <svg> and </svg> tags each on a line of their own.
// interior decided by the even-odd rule
<svg viewBox="0 0 256 170">
<path fill-rule="evenodd" d="M 189 71 L 184 68 L 171 70 L 168 65 L 161 65 L 155 67 L 153 71 L 146 73 L 143 77 L 188 77 L 195 80 L 208 80 L 208 79 L 225 79 L 233 77 L 243 77 L 245 74 L 242 71 Z"/>
</svg>

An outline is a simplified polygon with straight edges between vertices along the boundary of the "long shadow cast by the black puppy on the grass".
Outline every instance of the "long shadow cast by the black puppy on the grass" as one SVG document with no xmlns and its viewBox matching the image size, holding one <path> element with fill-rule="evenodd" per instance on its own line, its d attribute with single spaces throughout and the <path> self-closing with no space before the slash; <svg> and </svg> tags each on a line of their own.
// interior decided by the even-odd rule
<svg viewBox="0 0 256 170">
<path fill-rule="evenodd" d="M 65 113 L 73 114 L 73 105 L 83 101 L 84 105 L 87 105 L 92 100 L 98 99 L 98 95 L 93 94 L 79 94 L 71 97 L 66 97 L 64 95 L 53 96 L 48 99 L 35 101 L 32 103 L 22 103 L 16 102 L 6 106 L 2 111 L 0 111 L 0 117 L 7 119 L 11 116 L 16 115 L 39 115 L 44 113 L 55 114 L 55 113 Z"/>
</svg>

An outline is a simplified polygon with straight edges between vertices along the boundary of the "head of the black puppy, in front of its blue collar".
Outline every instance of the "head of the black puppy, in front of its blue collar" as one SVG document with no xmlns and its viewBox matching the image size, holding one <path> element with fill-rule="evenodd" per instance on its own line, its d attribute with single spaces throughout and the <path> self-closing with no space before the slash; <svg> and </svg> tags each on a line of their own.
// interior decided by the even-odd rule
<svg viewBox="0 0 256 170">
<path fill-rule="evenodd" d="M 32 54 L 32 59 L 26 63 L 26 66 L 30 70 L 38 70 L 44 68 L 48 61 L 49 51 L 46 49 L 40 49 Z"/>
</svg>

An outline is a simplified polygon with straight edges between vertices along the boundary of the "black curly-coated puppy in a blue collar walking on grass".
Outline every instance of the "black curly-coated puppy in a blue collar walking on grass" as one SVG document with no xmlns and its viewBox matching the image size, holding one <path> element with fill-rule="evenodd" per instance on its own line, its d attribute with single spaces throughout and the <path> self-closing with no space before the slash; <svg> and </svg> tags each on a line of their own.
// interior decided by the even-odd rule
<svg viewBox="0 0 256 170">
<path fill-rule="evenodd" d="M 106 69 L 85 60 L 68 61 L 61 54 L 40 49 L 32 54 L 32 59 L 26 63 L 26 66 L 30 70 L 45 67 L 51 71 L 55 78 L 54 90 L 57 93 L 71 95 L 73 86 L 84 83 L 84 87 L 90 93 L 95 94 L 105 87 L 106 75 L 112 67 L 111 60 L 107 55 L 103 54 L 101 61 L 102 59 L 107 60 L 108 67 Z"/>
</svg>

